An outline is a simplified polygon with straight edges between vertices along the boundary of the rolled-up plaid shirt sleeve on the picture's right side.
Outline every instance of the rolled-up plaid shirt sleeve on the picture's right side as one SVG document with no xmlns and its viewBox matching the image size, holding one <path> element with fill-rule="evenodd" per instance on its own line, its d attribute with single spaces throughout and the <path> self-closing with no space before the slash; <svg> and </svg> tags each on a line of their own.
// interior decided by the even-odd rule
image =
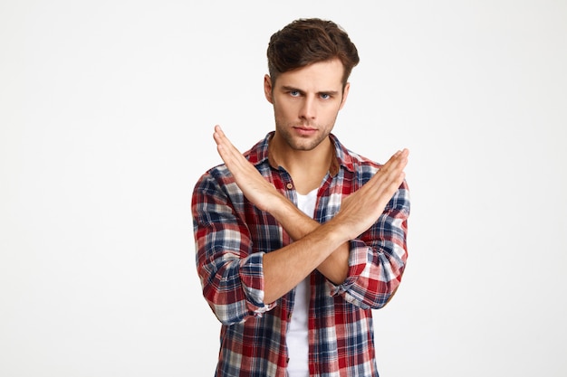
<svg viewBox="0 0 567 377">
<path fill-rule="evenodd" d="M 356 240 L 351 240 L 349 271 L 332 295 L 342 295 L 353 305 L 379 309 L 399 286 L 408 259 L 408 184 L 404 181 L 384 212 Z"/>
</svg>

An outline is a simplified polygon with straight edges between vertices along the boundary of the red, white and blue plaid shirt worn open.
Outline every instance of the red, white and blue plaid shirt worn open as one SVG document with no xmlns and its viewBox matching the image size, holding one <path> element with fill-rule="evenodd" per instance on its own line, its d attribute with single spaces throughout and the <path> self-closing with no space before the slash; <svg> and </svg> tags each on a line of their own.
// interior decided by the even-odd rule
<svg viewBox="0 0 567 377">
<path fill-rule="evenodd" d="M 293 203 L 297 193 L 282 167 L 268 159 L 268 134 L 245 153 L 260 174 Z M 314 219 L 329 221 L 341 198 L 355 192 L 380 165 L 356 155 L 331 135 L 336 163 L 317 194 Z M 311 274 L 309 370 L 311 376 L 378 376 L 372 311 L 389 300 L 407 259 L 408 186 L 401 184 L 378 221 L 351 240 L 349 271 L 339 286 Z M 264 253 L 292 242 L 267 212 L 248 202 L 225 165 L 203 174 L 192 199 L 197 272 L 203 296 L 222 323 L 216 376 L 285 376 L 285 335 L 294 289 L 264 303 Z"/>
</svg>

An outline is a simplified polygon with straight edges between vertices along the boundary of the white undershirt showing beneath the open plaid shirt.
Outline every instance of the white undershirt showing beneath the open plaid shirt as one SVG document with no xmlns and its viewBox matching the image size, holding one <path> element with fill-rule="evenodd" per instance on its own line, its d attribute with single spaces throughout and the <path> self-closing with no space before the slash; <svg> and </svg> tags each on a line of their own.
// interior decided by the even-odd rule
<svg viewBox="0 0 567 377">
<path fill-rule="evenodd" d="M 317 191 L 302 195 L 297 194 L 297 207 L 311 218 L 315 212 L 317 203 Z M 295 287 L 295 300 L 293 303 L 293 315 L 287 330 L 287 349 L 290 361 L 287 364 L 289 377 L 309 377 L 309 298 L 310 277 L 304 278 Z"/>
</svg>

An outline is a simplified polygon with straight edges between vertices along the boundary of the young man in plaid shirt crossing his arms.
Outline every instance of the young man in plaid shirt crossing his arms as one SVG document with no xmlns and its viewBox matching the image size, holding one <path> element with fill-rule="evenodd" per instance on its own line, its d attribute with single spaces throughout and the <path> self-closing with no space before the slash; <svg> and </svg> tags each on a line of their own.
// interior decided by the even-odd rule
<svg viewBox="0 0 567 377">
<path fill-rule="evenodd" d="M 216 126 L 225 164 L 193 193 L 216 376 L 378 376 L 371 309 L 405 268 L 408 150 L 378 165 L 331 133 L 359 62 L 337 24 L 293 21 L 267 56 L 275 130 L 243 156 Z"/>
</svg>

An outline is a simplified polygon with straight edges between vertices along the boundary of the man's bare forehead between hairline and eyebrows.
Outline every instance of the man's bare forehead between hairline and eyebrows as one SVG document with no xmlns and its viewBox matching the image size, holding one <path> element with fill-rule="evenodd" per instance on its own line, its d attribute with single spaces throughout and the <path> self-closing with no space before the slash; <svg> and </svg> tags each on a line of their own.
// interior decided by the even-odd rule
<svg viewBox="0 0 567 377">
<path fill-rule="evenodd" d="M 277 78 L 276 86 L 305 91 L 341 90 L 344 67 L 338 59 L 312 63 L 298 70 L 287 71 Z"/>
</svg>

